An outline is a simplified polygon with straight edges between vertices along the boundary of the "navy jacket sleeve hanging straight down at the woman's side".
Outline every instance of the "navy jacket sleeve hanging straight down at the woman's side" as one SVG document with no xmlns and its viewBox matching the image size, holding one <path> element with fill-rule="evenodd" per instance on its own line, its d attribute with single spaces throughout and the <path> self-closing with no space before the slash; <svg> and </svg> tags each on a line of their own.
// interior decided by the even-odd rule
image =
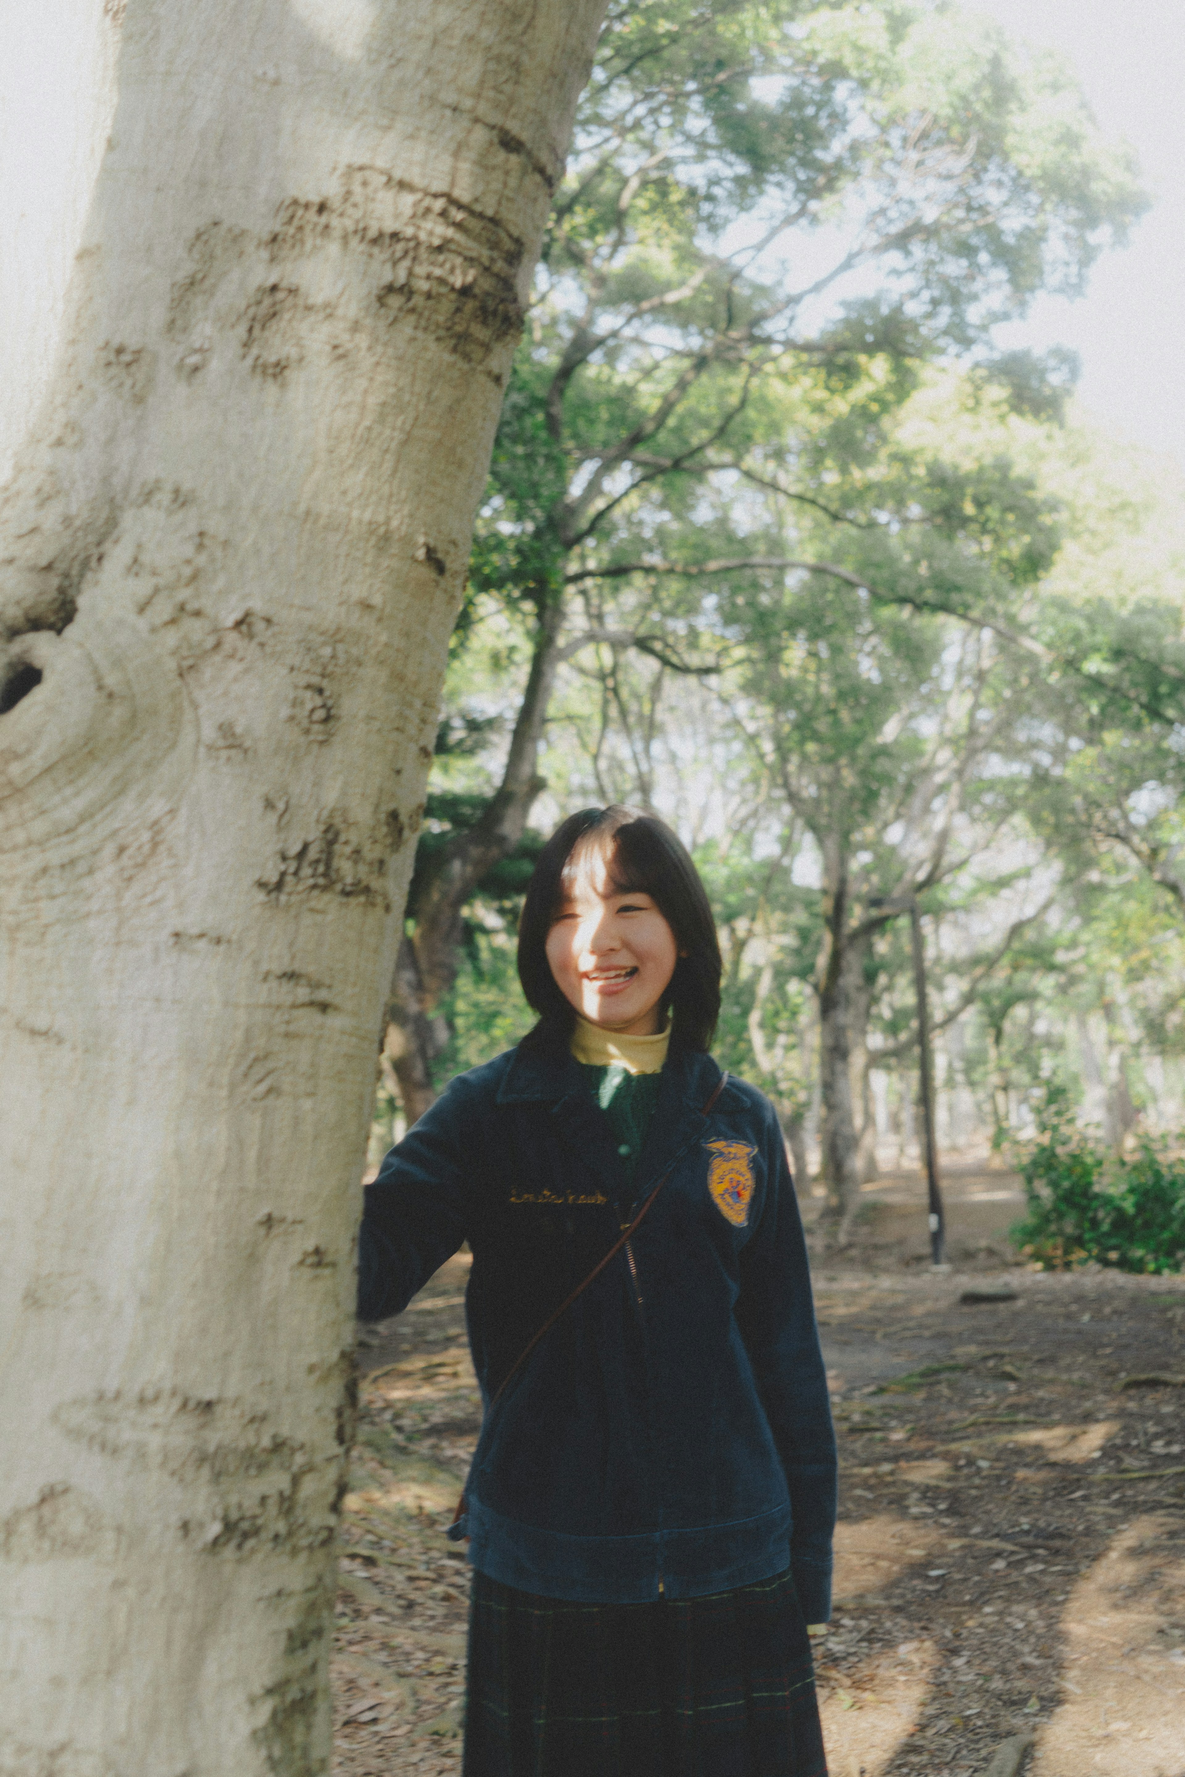
<svg viewBox="0 0 1185 1777">
<path fill-rule="evenodd" d="M 762 1153 L 766 1198 L 741 1255 L 736 1313 L 791 1489 L 794 1587 L 807 1622 L 826 1622 L 831 1615 L 835 1429 L 807 1242 L 773 1105 L 767 1105 Z"/>
</svg>

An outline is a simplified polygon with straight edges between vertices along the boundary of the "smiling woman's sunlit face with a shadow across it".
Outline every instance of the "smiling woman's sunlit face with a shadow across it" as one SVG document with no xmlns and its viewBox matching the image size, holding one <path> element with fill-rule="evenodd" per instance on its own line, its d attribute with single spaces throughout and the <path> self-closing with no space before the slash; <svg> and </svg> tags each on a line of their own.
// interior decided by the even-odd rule
<svg viewBox="0 0 1185 1777">
<path fill-rule="evenodd" d="M 675 974 L 675 933 L 648 894 L 618 894 L 604 867 L 556 913 L 547 961 L 583 1018 L 618 1036 L 663 1029 L 661 1000 Z"/>
</svg>

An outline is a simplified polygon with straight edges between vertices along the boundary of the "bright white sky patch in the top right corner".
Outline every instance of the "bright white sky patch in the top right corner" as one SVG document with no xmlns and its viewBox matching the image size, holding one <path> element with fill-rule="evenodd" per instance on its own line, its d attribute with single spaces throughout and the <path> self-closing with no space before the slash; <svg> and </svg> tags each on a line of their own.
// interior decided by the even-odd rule
<svg viewBox="0 0 1185 1777">
<path fill-rule="evenodd" d="M 1098 121 L 1135 147 L 1155 199 L 1130 245 L 1096 263 L 1084 299 L 1041 299 L 1000 343 L 1073 347 L 1086 407 L 1185 469 L 1185 0 L 966 5 L 1071 60 Z"/>
</svg>

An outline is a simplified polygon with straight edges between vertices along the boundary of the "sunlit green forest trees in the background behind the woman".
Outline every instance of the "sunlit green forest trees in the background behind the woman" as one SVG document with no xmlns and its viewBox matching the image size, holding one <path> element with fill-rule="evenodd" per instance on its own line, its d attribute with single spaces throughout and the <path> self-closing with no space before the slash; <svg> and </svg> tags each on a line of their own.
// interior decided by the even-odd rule
<svg viewBox="0 0 1185 1777">
<path fill-rule="evenodd" d="M 721 1063 L 849 1219 L 938 1137 L 1185 1125 L 1185 480 L 1000 352 L 1146 199 L 1068 69 L 945 5 L 615 9 L 453 638 L 371 1159 L 531 1024 L 542 835 L 680 832 Z M 1073 1116 L 1070 1116 L 1073 1112 Z M 1061 1120 L 1061 1121 L 1059 1121 Z"/>
</svg>

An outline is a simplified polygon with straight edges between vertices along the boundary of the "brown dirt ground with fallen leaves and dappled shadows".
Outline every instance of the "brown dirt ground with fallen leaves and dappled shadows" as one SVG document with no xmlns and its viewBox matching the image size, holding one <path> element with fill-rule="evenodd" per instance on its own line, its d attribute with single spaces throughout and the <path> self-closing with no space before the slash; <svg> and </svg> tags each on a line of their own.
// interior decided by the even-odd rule
<svg viewBox="0 0 1185 1777">
<path fill-rule="evenodd" d="M 856 1244 L 814 1258 L 840 1445 L 831 1777 L 972 1777 L 1014 1736 L 1027 1777 L 1185 1777 L 1185 1279 L 1034 1272 L 1007 1242 L 1016 1182 L 982 1162 L 947 1169 L 949 1271 L 917 1176 L 865 1198 Z M 460 1770 L 465 1276 L 458 1256 L 362 1331 L 336 1777 Z"/>
</svg>

